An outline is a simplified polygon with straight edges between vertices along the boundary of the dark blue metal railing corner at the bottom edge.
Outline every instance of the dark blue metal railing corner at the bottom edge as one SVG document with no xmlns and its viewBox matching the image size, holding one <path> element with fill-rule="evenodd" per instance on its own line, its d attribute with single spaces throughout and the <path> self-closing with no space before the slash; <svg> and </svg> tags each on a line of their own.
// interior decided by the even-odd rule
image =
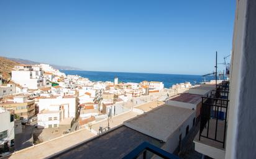
<svg viewBox="0 0 256 159">
<path fill-rule="evenodd" d="M 162 150 L 161 148 L 158 148 L 152 144 L 149 144 L 148 142 L 143 142 L 138 147 L 134 148 L 130 153 L 128 153 L 124 158 L 122 159 L 135 159 L 139 158 L 140 155 L 143 153 L 143 158 L 147 158 L 147 151 L 152 152 L 153 154 L 166 158 L 166 159 L 180 159 L 176 157 L 175 155 L 166 152 L 165 150 Z M 150 157 L 151 158 L 151 157 Z"/>
</svg>

